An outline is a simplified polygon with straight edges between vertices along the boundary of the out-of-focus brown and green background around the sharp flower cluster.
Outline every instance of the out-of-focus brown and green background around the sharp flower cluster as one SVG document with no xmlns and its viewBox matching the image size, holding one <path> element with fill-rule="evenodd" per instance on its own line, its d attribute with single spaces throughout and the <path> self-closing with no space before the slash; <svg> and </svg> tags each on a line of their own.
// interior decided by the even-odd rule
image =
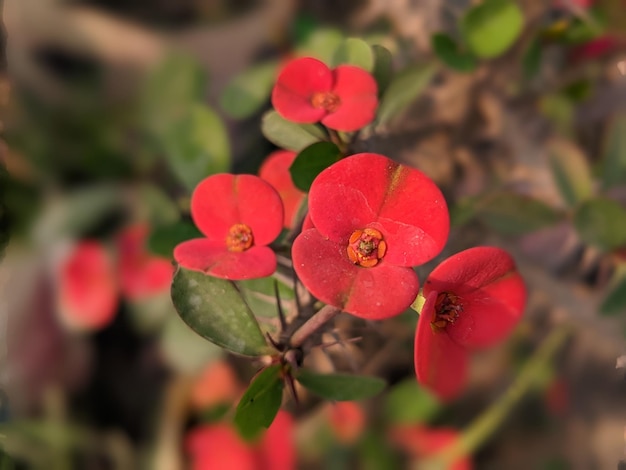
<svg viewBox="0 0 626 470">
<path fill-rule="evenodd" d="M 348 37 L 384 46 L 398 77 L 412 77 L 395 114 L 354 150 L 433 178 L 453 223 L 435 261 L 506 248 L 529 304 L 509 341 L 475 355 L 466 393 L 446 406 L 415 383 L 414 312 L 338 318 L 334 345 L 310 360 L 389 387 L 343 418 L 312 397 L 286 399 L 298 468 L 418 468 L 428 440 L 407 430 L 461 432 L 564 326 L 568 340 L 474 467 L 618 468 L 626 3 L 517 2 L 519 31 L 495 53 L 489 35 L 517 22 L 479 18 L 483 47 L 467 33 L 478 3 L 4 0 L 0 468 L 191 468 L 190 431 L 228 415 L 259 364 L 207 343 L 171 306 L 172 249 L 196 234 L 189 196 L 211 173 L 256 173 L 277 148 L 261 118 L 280 64 L 331 61 Z"/>
</svg>

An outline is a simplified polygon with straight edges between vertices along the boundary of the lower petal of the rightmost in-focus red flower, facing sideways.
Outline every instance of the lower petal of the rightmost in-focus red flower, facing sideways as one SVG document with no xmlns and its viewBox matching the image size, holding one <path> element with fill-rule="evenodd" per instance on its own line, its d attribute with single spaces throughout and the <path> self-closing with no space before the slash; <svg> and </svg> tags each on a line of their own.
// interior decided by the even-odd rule
<svg viewBox="0 0 626 470">
<path fill-rule="evenodd" d="M 441 400 L 456 397 L 465 385 L 467 351 L 452 341 L 445 330 L 433 331 L 437 293 L 431 292 L 422 308 L 415 334 L 415 375 L 417 381 Z"/>
</svg>

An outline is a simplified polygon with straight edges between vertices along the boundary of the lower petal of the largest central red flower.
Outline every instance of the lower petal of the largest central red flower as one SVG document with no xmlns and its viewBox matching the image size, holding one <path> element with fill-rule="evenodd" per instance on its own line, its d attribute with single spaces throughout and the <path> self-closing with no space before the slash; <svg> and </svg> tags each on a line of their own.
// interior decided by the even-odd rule
<svg viewBox="0 0 626 470">
<path fill-rule="evenodd" d="M 317 229 L 296 238 L 292 258 L 298 277 L 315 297 L 357 317 L 379 320 L 398 315 L 419 290 L 412 269 L 384 261 L 373 268 L 355 266 L 345 245 L 324 238 Z"/>
</svg>

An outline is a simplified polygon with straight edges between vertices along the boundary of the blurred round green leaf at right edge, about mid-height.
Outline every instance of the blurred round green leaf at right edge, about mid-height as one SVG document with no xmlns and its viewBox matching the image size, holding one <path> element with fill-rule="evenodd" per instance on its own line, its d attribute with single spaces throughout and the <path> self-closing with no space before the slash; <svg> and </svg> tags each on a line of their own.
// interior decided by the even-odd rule
<svg viewBox="0 0 626 470">
<path fill-rule="evenodd" d="M 606 198 L 585 201 L 574 213 L 574 227 L 586 243 L 611 251 L 626 245 L 626 210 Z"/>
</svg>

